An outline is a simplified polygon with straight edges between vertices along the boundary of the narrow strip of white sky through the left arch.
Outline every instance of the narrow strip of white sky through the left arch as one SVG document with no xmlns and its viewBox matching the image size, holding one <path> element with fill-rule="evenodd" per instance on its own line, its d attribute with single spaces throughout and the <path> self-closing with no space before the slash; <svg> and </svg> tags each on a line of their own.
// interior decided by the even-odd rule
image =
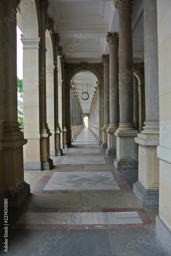
<svg viewBox="0 0 171 256">
<path fill-rule="evenodd" d="M 22 42 L 20 40 L 22 32 L 17 27 L 17 76 L 19 79 L 22 79 L 22 62 L 23 62 L 23 54 L 22 54 Z"/>
</svg>

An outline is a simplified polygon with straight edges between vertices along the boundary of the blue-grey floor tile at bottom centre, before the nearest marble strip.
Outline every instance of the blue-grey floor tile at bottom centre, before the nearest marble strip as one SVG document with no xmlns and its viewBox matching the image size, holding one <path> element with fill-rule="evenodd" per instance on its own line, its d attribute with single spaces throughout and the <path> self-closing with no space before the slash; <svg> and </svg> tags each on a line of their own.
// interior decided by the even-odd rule
<svg viewBox="0 0 171 256">
<path fill-rule="evenodd" d="M 48 254 L 44 251 L 42 255 L 112 256 L 107 230 L 50 230 L 44 248 L 51 241 Z"/>
</svg>

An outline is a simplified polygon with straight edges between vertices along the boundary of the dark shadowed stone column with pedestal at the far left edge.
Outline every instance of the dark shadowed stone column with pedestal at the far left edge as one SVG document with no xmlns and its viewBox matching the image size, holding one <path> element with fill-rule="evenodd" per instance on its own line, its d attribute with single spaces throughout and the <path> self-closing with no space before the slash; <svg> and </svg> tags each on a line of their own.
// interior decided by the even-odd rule
<svg viewBox="0 0 171 256">
<path fill-rule="evenodd" d="M 16 7 L 19 2 L 1 1 L 0 4 L 0 203 L 3 201 L 3 206 L 4 198 L 8 198 L 9 207 L 18 207 L 30 193 L 23 174 L 23 145 L 27 140 L 17 121 Z"/>
</svg>

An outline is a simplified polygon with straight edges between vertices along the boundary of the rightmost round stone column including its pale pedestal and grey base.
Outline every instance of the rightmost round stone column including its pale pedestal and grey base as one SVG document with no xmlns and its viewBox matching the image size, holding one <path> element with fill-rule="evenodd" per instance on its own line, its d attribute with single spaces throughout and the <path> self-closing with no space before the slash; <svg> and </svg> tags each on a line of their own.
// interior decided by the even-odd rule
<svg viewBox="0 0 171 256">
<path fill-rule="evenodd" d="M 135 138 L 139 145 L 138 181 L 133 192 L 142 206 L 158 206 L 159 203 L 159 81 L 157 4 L 144 0 L 144 71 L 145 71 L 145 126 Z M 150 24 L 150 26 L 149 26 Z"/>
</svg>

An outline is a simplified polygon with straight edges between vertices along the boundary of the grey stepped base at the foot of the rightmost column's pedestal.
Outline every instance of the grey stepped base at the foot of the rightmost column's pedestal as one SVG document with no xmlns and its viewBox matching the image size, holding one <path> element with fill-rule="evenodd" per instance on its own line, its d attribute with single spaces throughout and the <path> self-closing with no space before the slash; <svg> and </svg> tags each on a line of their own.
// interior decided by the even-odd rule
<svg viewBox="0 0 171 256">
<path fill-rule="evenodd" d="M 133 193 L 143 207 L 159 206 L 159 189 L 146 189 L 138 180 L 133 184 Z"/>
</svg>

